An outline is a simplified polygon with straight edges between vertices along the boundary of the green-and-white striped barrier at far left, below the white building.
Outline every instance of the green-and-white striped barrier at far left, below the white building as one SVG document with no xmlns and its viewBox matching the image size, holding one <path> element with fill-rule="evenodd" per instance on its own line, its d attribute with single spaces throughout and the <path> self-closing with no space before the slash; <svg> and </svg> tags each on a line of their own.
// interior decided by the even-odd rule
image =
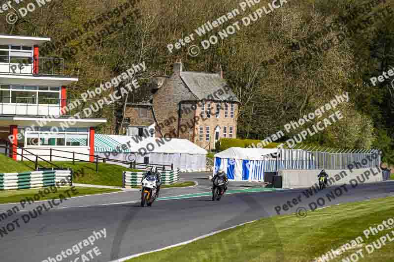
<svg viewBox="0 0 394 262">
<path fill-rule="evenodd" d="M 62 180 L 66 180 L 71 185 L 70 170 L 0 173 L 0 190 L 54 186 L 56 182 Z"/>
</svg>

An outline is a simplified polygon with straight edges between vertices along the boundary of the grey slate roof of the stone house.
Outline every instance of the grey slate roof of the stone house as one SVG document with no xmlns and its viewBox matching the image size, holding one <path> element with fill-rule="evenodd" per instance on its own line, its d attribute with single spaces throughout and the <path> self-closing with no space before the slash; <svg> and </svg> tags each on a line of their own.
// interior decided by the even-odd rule
<svg viewBox="0 0 394 262">
<path fill-rule="evenodd" d="M 180 76 L 186 86 L 199 100 L 239 102 L 237 96 L 218 74 L 181 71 Z M 222 89 L 223 94 L 218 91 Z M 226 89 L 229 89 L 226 93 Z M 214 94 L 215 93 L 215 94 Z M 209 96 L 209 97 L 208 97 Z M 213 97 L 213 99 L 211 98 Z"/>
</svg>

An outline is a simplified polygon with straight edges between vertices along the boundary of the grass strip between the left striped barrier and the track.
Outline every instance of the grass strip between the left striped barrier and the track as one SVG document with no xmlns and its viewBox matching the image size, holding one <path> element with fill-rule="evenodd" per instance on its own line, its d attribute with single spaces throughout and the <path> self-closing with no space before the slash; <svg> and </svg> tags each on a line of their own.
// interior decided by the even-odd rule
<svg viewBox="0 0 394 262">
<path fill-rule="evenodd" d="M 39 200 L 49 200 L 53 198 L 59 198 L 60 194 L 64 194 L 67 189 L 71 187 L 62 187 L 57 188 L 57 192 L 53 193 L 51 191 L 49 194 L 43 194 Z M 49 187 L 51 189 L 51 187 Z M 102 193 L 110 193 L 110 192 L 118 192 L 122 190 L 118 189 L 107 189 L 107 188 L 93 188 L 93 187 L 75 187 L 77 193 L 69 193 L 71 197 L 79 197 L 79 196 L 86 196 L 86 195 L 95 195 L 95 194 L 102 194 Z M 43 191 L 43 188 L 34 188 L 34 189 L 19 189 L 19 190 L 4 190 L 0 191 L 0 204 L 6 203 L 16 203 L 20 202 L 22 199 L 29 197 L 34 198 L 34 195 L 38 193 L 38 191 Z M 68 196 L 64 194 L 67 198 Z"/>
</svg>

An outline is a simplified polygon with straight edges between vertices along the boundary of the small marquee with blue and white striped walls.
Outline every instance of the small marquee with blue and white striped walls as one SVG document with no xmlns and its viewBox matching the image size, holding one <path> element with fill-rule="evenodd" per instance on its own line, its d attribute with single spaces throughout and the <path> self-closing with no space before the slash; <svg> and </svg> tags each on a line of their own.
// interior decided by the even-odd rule
<svg viewBox="0 0 394 262">
<path fill-rule="evenodd" d="M 263 181 L 265 172 L 275 171 L 277 148 L 230 147 L 214 155 L 214 170 L 222 169 L 233 181 Z"/>
</svg>

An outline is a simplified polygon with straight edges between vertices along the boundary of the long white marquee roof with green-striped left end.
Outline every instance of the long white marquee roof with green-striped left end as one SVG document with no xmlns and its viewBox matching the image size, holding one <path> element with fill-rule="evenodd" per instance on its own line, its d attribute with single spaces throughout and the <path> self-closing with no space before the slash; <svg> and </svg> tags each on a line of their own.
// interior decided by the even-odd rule
<svg viewBox="0 0 394 262">
<path fill-rule="evenodd" d="M 205 149 L 193 144 L 187 139 L 174 138 L 167 142 L 161 138 L 142 137 L 140 140 L 130 136 L 95 134 L 95 152 L 119 151 L 117 147 L 124 153 L 138 152 L 139 148 L 146 148 L 146 145 L 152 143 L 154 145 L 154 150 L 150 151 L 151 153 L 207 154 Z M 136 141 L 138 141 L 138 143 Z M 163 142 L 164 145 L 163 143 L 159 144 L 158 141 Z M 122 150 L 122 145 L 126 145 L 128 149 Z M 150 146 L 149 148 L 152 147 Z"/>
</svg>

